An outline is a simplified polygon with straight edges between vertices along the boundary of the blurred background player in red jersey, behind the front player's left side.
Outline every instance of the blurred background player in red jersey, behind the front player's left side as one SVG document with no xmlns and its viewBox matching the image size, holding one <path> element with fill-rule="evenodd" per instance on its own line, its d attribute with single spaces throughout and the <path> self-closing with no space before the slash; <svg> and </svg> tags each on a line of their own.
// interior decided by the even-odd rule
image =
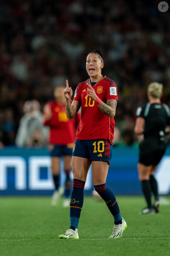
<svg viewBox="0 0 170 256">
<path fill-rule="evenodd" d="M 64 192 L 64 207 L 69 207 L 69 198 L 72 187 L 70 180 L 70 169 L 72 160 L 72 149 L 75 139 L 77 119 L 68 120 L 65 113 L 65 97 L 63 95 L 64 86 L 56 87 L 54 91 L 55 101 L 48 102 L 44 106 L 44 125 L 50 127 L 49 152 L 51 156 L 51 168 L 55 184 L 55 191 L 52 195 L 52 205 L 55 206 Z M 59 187 L 60 180 L 60 158 L 64 159 L 64 172 L 66 175 L 65 191 Z"/>
</svg>

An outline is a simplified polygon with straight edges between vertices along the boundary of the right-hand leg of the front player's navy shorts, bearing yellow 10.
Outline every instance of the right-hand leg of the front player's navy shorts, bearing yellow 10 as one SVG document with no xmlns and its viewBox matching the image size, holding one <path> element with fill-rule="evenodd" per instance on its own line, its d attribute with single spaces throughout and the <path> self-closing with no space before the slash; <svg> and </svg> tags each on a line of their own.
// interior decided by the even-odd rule
<svg viewBox="0 0 170 256">
<path fill-rule="evenodd" d="M 90 161 L 101 161 L 108 162 L 110 164 L 112 158 L 112 145 L 106 139 L 97 139 L 97 140 L 87 140 L 86 141 L 89 154 Z"/>
</svg>

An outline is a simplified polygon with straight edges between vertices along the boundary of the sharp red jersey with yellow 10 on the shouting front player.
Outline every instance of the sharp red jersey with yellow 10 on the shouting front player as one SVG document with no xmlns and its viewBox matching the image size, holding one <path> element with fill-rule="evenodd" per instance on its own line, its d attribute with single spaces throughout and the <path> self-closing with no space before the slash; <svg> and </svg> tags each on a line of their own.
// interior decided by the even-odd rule
<svg viewBox="0 0 170 256">
<path fill-rule="evenodd" d="M 112 143 L 115 120 L 105 115 L 97 104 L 87 95 L 90 79 L 79 83 L 76 88 L 74 99 L 81 105 L 81 121 L 77 127 L 77 140 L 107 139 Z M 118 100 L 117 86 L 110 78 L 104 76 L 93 86 L 96 95 L 104 102 Z"/>
</svg>

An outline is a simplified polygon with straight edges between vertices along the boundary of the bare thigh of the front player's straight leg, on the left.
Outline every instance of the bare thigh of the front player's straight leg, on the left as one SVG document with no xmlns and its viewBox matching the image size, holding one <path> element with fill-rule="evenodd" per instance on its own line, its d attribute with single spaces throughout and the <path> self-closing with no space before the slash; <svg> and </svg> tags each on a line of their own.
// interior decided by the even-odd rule
<svg viewBox="0 0 170 256">
<path fill-rule="evenodd" d="M 89 171 L 90 165 L 91 165 L 91 162 L 88 158 L 73 156 L 72 157 L 73 179 L 86 181 L 87 173 Z"/>
</svg>

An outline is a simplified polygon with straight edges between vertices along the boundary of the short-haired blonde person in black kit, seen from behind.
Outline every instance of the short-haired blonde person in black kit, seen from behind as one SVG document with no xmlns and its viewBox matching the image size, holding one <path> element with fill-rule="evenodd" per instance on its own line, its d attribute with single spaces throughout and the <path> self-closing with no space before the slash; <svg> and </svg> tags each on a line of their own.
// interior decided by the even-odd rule
<svg viewBox="0 0 170 256">
<path fill-rule="evenodd" d="M 163 85 L 157 82 L 149 84 L 147 96 L 149 103 L 137 109 L 135 133 L 143 134 L 140 143 L 139 163 L 137 169 L 147 207 L 140 214 L 159 212 L 159 196 L 154 172 L 166 150 L 165 128 L 170 125 L 170 110 L 162 104 Z M 154 194 L 154 207 L 151 203 L 151 192 Z"/>
</svg>

